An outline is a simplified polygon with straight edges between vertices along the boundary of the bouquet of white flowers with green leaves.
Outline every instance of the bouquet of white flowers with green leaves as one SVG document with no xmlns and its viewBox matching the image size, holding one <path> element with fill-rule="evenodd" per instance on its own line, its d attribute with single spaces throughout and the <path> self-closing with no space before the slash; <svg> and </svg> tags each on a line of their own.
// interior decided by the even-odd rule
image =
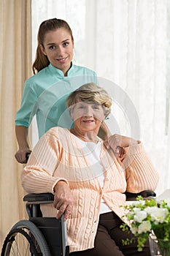
<svg viewBox="0 0 170 256">
<path fill-rule="evenodd" d="M 123 231 L 134 234 L 138 251 L 142 251 L 150 234 L 154 233 L 158 240 L 161 254 L 170 255 L 170 202 L 166 200 L 156 202 L 154 199 L 143 200 L 139 196 L 135 203 L 124 207 L 126 223 L 120 227 Z M 133 240 L 133 238 L 131 240 L 126 239 L 123 244 L 130 244 Z"/>
</svg>

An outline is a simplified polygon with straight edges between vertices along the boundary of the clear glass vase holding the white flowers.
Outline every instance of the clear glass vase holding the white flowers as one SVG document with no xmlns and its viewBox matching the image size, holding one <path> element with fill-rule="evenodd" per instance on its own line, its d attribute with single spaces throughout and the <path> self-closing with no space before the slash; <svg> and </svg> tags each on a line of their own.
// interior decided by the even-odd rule
<svg viewBox="0 0 170 256">
<path fill-rule="evenodd" d="M 149 236 L 151 256 L 170 256 L 170 241 L 158 239 L 154 233 Z"/>
</svg>

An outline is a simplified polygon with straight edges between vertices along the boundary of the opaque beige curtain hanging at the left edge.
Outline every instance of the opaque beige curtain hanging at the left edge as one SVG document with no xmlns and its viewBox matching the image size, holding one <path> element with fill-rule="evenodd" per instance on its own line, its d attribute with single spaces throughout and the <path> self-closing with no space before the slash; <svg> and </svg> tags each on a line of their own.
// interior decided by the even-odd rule
<svg viewBox="0 0 170 256">
<path fill-rule="evenodd" d="M 0 1 L 0 246 L 18 220 L 26 218 L 16 162 L 15 113 L 23 83 L 31 75 L 31 0 Z"/>
</svg>

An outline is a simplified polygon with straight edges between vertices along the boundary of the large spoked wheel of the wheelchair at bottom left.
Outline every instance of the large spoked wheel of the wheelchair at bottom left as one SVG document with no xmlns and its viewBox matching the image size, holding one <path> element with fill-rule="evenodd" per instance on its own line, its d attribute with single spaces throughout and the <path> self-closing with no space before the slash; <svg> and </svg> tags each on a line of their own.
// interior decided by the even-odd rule
<svg viewBox="0 0 170 256">
<path fill-rule="evenodd" d="M 50 256 L 44 236 L 28 220 L 21 220 L 9 231 L 4 240 L 1 256 Z"/>
</svg>

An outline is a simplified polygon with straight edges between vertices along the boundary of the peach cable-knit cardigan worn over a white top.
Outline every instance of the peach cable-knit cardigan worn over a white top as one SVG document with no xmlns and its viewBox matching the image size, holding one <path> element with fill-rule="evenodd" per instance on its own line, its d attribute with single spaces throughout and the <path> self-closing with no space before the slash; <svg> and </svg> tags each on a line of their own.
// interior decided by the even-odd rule
<svg viewBox="0 0 170 256">
<path fill-rule="evenodd" d="M 88 162 L 87 154 L 87 147 L 82 148 L 68 129 L 54 127 L 40 138 L 21 175 L 26 192 L 53 193 L 58 181 L 65 180 L 69 184 L 76 201 L 72 216 L 66 221 L 70 252 L 93 248 L 101 198 L 111 211 L 122 217 L 120 205 L 125 202 L 125 190 L 154 190 L 158 184 L 158 173 L 140 142 L 126 148 L 124 159 L 119 161 L 102 142 L 103 187 L 95 174 L 95 164 Z M 54 217 L 57 210 L 53 205 L 47 205 L 42 211 L 44 216 Z"/>
</svg>

